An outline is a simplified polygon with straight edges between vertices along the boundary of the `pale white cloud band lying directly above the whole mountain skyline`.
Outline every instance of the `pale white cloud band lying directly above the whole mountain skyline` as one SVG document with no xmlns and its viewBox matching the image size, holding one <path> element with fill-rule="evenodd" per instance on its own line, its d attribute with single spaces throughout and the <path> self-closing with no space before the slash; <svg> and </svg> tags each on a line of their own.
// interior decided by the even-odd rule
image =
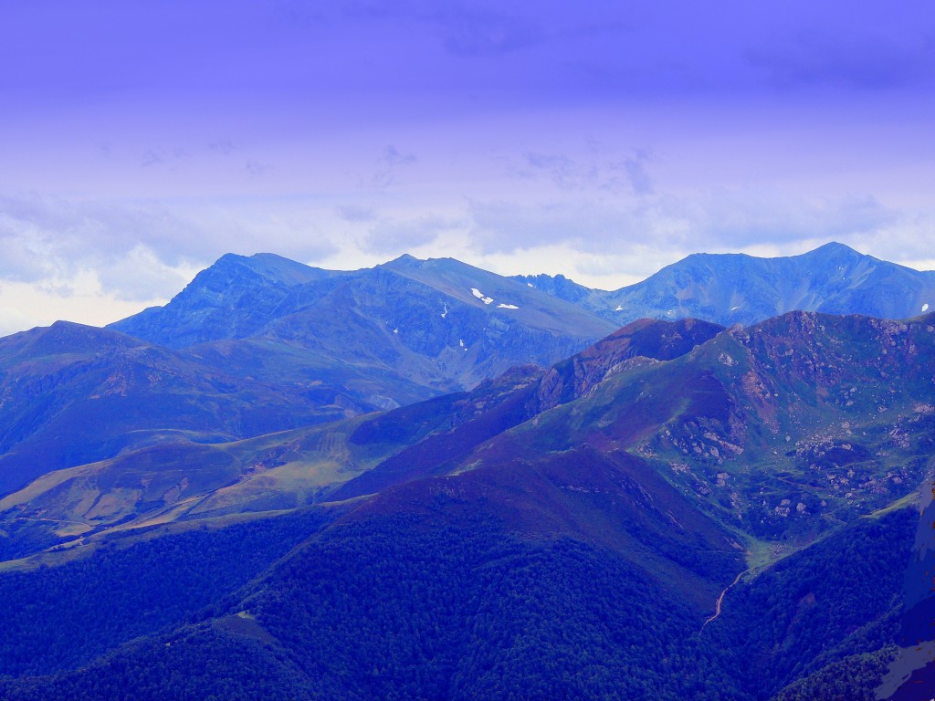
<svg viewBox="0 0 935 701">
<path fill-rule="evenodd" d="M 528 161 L 528 153 L 523 157 Z M 651 164 L 632 158 L 640 167 Z M 820 198 L 778 187 L 637 192 L 629 184 L 614 190 L 602 177 L 589 182 L 575 175 L 581 171 L 569 166 L 571 159 L 534 160 L 544 174 L 528 177 L 554 187 L 520 189 L 511 198 L 431 200 L 425 207 L 414 207 L 405 191 L 396 203 L 384 197 L 379 208 L 310 197 L 246 203 L 0 197 L 0 333 L 58 318 L 116 321 L 165 303 L 228 251 L 268 250 L 340 268 L 404 252 L 452 256 L 505 275 L 562 273 L 604 289 L 698 250 L 788 255 L 838 240 L 906 265 L 933 261 L 932 212 L 890 206 L 870 194 Z M 352 191 L 340 197 L 354 202 Z"/>
</svg>

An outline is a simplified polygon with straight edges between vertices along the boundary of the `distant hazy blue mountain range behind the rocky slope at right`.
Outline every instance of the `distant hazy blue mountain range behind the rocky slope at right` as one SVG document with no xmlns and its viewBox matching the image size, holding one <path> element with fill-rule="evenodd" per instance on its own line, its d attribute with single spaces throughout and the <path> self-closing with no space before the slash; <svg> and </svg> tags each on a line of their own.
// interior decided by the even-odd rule
<svg viewBox="0 0 935 701">
<path fill-rule="evenodd" d="M 560 275 L 515 279 L 618 325 L 644 317 L 749 325 L 796 309 L 907 319 L 935 305 L 935 272 L 887 263 L 840 243 L 785 258 L 696 253 L 612 292 Z"/>
</svg>

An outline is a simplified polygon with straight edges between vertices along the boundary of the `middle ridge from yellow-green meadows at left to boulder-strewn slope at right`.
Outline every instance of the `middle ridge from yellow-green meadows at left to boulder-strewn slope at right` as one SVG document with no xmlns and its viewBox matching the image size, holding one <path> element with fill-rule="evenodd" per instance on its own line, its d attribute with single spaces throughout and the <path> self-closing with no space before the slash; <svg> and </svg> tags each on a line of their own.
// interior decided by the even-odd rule
<svg viewBox="0 0 935 701">
<path fill-rule="evenodd" d="M 0 501 L 0 522 L 12 556 L 591 446 L 643 457 L 757 548 L 795 545 L 925 476 L 932 321 L 635 322 L 549 370 L 515 368 L 470 393 L 237 442 L 176 436 L 50 471 Z"/>
</svg>

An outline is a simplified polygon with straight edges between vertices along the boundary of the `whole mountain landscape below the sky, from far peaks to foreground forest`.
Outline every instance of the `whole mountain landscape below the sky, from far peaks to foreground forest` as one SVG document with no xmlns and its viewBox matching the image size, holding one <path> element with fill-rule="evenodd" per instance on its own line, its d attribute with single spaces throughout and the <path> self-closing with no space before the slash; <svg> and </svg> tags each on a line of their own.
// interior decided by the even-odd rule
<svg viewBox="0 0 935 701">
<path fill-rule="evenodd" d="M 228 254 L 0 338 L 0 697 L 928 698 L 929 305 Z"/>
</svg>

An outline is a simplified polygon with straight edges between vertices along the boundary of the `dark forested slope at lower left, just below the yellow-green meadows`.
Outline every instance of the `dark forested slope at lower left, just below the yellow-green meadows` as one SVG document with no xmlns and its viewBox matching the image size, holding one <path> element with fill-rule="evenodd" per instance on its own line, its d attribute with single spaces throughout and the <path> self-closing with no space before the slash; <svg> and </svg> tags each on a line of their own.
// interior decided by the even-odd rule
<svg viewBox="0 0 935 701">
<path fill-rule="evenodd" d="M 115 540 L 76 562 L 0 574 L 0 676 L 86 664 L 185 622 L 319 530 L 325 517 L 309 510 L 133 544 Z"/>
</svg>

